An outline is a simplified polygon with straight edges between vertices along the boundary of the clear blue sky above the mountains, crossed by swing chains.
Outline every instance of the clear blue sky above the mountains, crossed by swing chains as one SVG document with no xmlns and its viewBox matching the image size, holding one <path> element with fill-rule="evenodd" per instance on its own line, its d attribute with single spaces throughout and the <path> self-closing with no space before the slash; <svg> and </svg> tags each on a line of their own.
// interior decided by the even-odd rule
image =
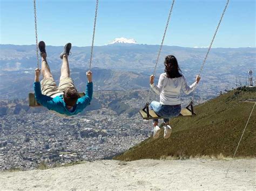
<svg viewBox="0 0 256 191">
<path fill-rule="evenodd" d="M 0 0 L 1 44 L 35 44 L 32 0 Z M 172 0 L 99 0 L 96 45 L 114 38 L 160 44 Z M 165 45 L 210 44 L 226 0 L 176 0 Z M 38 38 L 90 46 L 95 1 L 37 0 Z M 255 1 L 230 0 L 213 47 L 255 47 Z"/>
</svg>

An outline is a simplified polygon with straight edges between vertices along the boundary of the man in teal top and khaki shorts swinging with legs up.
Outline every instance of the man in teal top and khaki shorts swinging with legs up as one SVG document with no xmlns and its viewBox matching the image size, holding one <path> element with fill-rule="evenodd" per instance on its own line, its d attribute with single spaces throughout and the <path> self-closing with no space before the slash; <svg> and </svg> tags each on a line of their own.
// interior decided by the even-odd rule
<svg viewBox="0 0 256 191">
<path fill-rule="evenodd" d="M 43 80 L 39 82 L 41 69 L 36 68 L 35 82 L 33 84 L 36 101 L 49 110 L 56 111 L 64 116 L 76 115 L 82 112 L 92 100 L 92 72 L 90 70 L 86 72 L 88 82 L 85 96 L 79 97 L 74 82 L 70 77 L 68 56 L 70 54 L 71 43 L 67 43 L 64 51 L 60 54 L 60 59 L 63 61 L 58 87 L 53 80 L 50 67 L 46 61 L 44 41 L 39 42 L 38 48 L 42 57 Z"/>
</svg>

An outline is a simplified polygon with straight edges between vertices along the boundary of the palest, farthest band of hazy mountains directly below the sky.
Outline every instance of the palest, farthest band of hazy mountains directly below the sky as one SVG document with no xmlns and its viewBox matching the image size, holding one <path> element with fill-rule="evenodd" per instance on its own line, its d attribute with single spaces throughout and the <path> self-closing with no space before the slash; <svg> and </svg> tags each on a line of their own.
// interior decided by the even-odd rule
<svg viewBox="0 0 256 191">
<path fill-rule="evenodd" d="M 72 42 L 71 42 L 72 43 Z M 35 45 L 0 45 L 0 70 L 20 70 L 36 67 Z M 117 43 L 106 46 L 96 46 L 93 52 L 92 67 L 114 70 L 130 70 L 136 72 L 151 72 L 156 62 L 159 45 L 139 45 Z M 46 52 L 51 69 L 59 69 L 62 60 L 59 54 L 63 46 L 48 46 Z M 72 47 L 70 56 L 71 68 L 89 66 L 90 47 Z M 181 69 L 188 70 L 186 74 L 196 74 L 203 62 L 207 48 L 187 48 L 179 46 L 163 46 L 158 69 L 163 71 L 164 57 L 173 54 L 177 57 Z M 225 70 L 226 74 L 239 74 L 248 67 L 255 68 L 256 48 L 212 48 L 207 59 L 206 70 Z M 240 68 L 240 70 L 238 70 Z M 150 71 L 149 71 L 150 70 Z M 207 71 L 205 71 L 207 74 Z"/>
</svg>

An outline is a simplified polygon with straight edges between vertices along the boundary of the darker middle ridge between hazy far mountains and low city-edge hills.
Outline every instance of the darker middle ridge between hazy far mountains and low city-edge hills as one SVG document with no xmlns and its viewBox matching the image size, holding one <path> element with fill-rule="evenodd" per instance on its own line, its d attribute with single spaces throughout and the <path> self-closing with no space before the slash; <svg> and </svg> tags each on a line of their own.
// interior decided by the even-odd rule
<svg viewBox="0 0 256 191">
<path fill-rule="evenodd" d="M 92 68 L 93 90 L 134 90 L 149 89 L 149 75 L 134 72 L 116 72 L 111 69 Z M 60 70 L 51 70 L 58 85 Z M 71 77 L 79 91 L 85 91 L 86 70 L 71 69 Z M 0 72 L 0 99 L 26 98 L 33 92 L 35 70 L 18 70 Z M 41 76 L 42 77 L 42 76 Z"/>
</svg>

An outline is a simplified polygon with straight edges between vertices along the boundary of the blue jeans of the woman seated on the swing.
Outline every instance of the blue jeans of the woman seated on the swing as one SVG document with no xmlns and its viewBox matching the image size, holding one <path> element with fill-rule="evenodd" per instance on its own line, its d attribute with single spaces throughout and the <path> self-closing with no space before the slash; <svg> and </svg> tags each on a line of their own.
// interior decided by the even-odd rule
<svg viewBox="0 0 256 191">
<path fill-rule="evenodd" d="M 156 101 L 151 102 L 150 108 L 163 117 L 165 123 L 169 122 L 169 118 L 177 117 L 181 111 L 181 105 L 162 105 Z M 158 122 L 158 119 L 153 119 L 153 122 Z"/>
</svg>

